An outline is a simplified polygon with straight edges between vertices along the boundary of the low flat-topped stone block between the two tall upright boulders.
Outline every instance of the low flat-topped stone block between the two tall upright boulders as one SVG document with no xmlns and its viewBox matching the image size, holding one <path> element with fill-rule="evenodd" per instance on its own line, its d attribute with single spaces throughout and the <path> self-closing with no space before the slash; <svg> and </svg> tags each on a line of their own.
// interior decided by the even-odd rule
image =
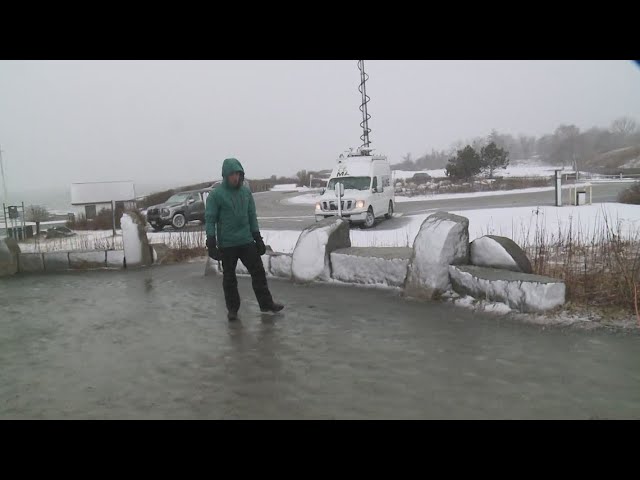
<svg viewBox="0 0 640 480">
<path fill-rule="evenodd" d="M 331 252 L 331 277 L 341 282 L 401 287 L 411 254 L 411 248 L 340 248 Z"/>
</svg>

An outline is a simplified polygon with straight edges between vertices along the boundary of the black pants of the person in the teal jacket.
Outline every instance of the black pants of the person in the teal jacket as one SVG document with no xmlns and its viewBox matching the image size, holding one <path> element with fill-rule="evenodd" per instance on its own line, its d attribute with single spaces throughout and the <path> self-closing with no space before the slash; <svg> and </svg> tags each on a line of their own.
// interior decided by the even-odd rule
<svg viewBox="0 0 640 480">
<path fill-rule="evenodd" d="M 273 298 L 267 285 L 267 274 L 264 271 L 262 259 L 258 255 L 255 243 L 239 247 L 226 247 L 220 249 L 222 253 L 222 288 L 227 310 L 237 312 L 240 308 L 240 294 L 238 293 L 238 279 L 236 278 L 236 266 L 238 260 L 249 271 L 251 284 L 256 294 L 260 308 L 269 308 L 273 304 Z"/>
</svg>

